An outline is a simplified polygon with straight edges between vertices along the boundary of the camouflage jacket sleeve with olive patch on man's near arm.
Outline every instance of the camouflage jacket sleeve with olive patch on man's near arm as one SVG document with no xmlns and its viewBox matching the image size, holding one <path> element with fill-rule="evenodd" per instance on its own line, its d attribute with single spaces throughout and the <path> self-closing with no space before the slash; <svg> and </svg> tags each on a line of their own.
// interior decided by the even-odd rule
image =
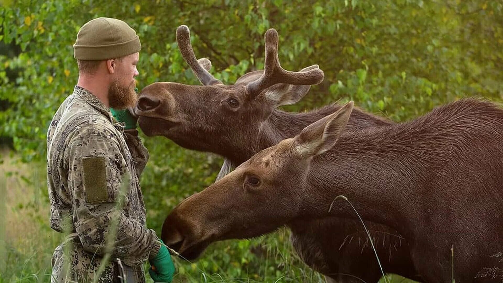
<svg viewBox="0 0 503 283">
<path fill-rule="evenodd" d="M 72 140 L 67 151 L 73 221 L 83 248 L 99 256 L 110 253 L 128 265 L 154 257 L 160 248 L 155 231 L 122 208 L 132 181 L 117 141 L 93 133 Z"/>
</svg>

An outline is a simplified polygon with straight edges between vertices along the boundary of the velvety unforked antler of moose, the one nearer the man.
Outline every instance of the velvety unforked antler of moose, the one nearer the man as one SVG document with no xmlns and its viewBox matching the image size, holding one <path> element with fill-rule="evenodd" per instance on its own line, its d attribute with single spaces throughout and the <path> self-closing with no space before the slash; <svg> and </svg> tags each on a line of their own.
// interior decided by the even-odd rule
<svg viewBox="0 0 503 283">
<path fill-rule="evenodd" d="M 219 80 L 215 79 L 210 73 L 208 73 L 207 65 L 204 65 L 209 62 L 206 62 L 203 59 L 199 59 L 199 61 L 196 59 L 196 55 L 194 54 L 194 50 L 192 49 L 192 45 L 190 42 L 190 31 L 189 27 L 186 25 L 181 25 L 177 29 L 177 42 L 178 42 L 178 48 L 180 49 L 180 52 L 182 53 L 182 57 L 184 57 L 185 61 L 187 64 L 189 64 L 190 68 L 192 69 L 192 72 L 194 72 L 194 75 L 199 79 L 201 84 L 205 86 L 211 86 L 211 85 L 216 85 L 216 84 L 222 84 Z M 203 64 L 201 64 L 201 63 Z M 209 67 L 211 67 L 211 62 L 209 62 Z"/>
</svg>

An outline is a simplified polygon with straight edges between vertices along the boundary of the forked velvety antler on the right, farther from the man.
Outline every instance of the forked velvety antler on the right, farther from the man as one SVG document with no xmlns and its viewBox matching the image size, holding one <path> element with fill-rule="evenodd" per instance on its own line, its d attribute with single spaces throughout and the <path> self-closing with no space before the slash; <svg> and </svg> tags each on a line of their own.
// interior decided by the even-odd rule
<svg viewBox="0 0 503 283">
<path fill-rule="evenodd" d="M 265 70 L 259 79 L 246 86 L 249 94 L 259 95 L 268 87 L 280 83 L 290 85 L 317 85 L 323 81 L 323 71 L 319 68 L 313 68 L 307 72 L 291 72 L 281 67 L 278 57 L 278 32 L 275 29 L 269 29 L 266 32 L 265 40 Z"/>
</svg>

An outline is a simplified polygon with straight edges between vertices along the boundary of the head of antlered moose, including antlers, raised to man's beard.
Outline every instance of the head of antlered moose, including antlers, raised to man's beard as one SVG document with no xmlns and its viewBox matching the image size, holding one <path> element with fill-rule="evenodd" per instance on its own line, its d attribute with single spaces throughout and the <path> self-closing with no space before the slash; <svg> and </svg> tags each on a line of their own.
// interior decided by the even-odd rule
<svg viewBox="0 0 503 283">
<path fill-rule="evenodd" d="M 256 139 L 260 132 L 269 130 L 264 121 L 276 107 L 297 102 L 311 85 L 323 80 L 318 65 L 300 72 L 281 67 L 278 33 L 274 29 L 265 35 L 264 70 L 247 73 L 229 86 L 208 73 L 209 60 L 196 59 L 187 26 L 177 29 L 177 41 L 182 56 L 203 86 L 151 84 L 138 94 L 134 112 L 140 116 L 138 122 L 145 134 L 164 135 L 184 148 L 222 156 L 239 155 L 235 160 L 243 162 L 255 152 L 242 153 L 223 145 L 237 146 Z"/>
</svg>

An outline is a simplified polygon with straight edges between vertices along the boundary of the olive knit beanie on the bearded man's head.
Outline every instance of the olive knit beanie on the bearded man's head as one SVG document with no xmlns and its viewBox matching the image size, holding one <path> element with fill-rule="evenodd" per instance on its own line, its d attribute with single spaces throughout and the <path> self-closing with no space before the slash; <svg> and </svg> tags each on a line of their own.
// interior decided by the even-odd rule
<svg viewBox="0 0 503 283">
<path fill-rule="evenodd" d="M 83 25 L 73 44 L 73 56 L 80 60 L 120 58 L 141 50 L 136 32 L 125 22 L 96 18 Z"/>
</svg>

